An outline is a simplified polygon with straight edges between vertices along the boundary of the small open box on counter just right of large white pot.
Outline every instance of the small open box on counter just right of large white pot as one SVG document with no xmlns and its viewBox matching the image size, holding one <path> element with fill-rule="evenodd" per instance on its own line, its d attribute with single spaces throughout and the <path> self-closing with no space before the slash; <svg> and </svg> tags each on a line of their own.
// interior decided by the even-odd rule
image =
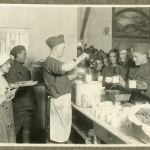
<svg viewBox="0 0 150 150">
<path fill-rule="evenodd" d="M 131 94 L 120 92 L 119 90 L 107 90 L 109 97 L 113 101 L 129 101 Z"/>
</svg>

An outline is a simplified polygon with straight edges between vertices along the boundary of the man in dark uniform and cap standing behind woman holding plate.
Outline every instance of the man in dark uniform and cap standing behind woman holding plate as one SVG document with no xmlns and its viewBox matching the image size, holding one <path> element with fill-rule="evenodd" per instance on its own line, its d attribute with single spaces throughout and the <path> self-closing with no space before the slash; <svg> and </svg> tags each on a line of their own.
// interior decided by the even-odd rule
<svg viewBox="0 0 150 150">
<path fill-rule="evenodd" d="M 23 45 L 15 46 L 10 54 L 14 61 L 6 75 L 8 83 L 30 81 L 29 70 L 24 66 L 27 52 Z M 22 128 L 22 142 L 30 143 L 30 130 L 33 120 L 34 109 L 37 107 L 33 87 L 21 87 L 12 100 L 16 135 Z"/>
</svg>

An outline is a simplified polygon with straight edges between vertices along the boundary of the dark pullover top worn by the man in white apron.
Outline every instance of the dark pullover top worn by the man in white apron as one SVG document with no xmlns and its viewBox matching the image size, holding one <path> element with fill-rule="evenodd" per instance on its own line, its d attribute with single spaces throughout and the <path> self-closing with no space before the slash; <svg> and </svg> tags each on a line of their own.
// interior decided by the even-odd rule
<svg viewBox="0 0 150 150">
<path fill-rule="evenodd" d="M 71 93 L 71 83 L 65 72 L 62 71 L 64 63 L 48 56 L 43 63 L 43 77 L 48 95 L 58 98 Z"/>
</svg>

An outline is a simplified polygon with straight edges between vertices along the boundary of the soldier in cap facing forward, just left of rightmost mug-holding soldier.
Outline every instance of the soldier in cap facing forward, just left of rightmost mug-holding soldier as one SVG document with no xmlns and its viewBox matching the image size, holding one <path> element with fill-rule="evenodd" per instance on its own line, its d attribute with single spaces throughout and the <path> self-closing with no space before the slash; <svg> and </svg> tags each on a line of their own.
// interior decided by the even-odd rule
<svg viewBox="0 0 150 150">
<path fill-rule="evenodd" d="M 122 42 L 119 46 L 119 59 L 120 64 L 116 67 L 116 74 L 122 76 L 122 78 L 127 81 L 129 69 L 134 66 L 134 63 L 129 59 L 129 49 L 132 47 L 130 42 Z"/>
</svg>

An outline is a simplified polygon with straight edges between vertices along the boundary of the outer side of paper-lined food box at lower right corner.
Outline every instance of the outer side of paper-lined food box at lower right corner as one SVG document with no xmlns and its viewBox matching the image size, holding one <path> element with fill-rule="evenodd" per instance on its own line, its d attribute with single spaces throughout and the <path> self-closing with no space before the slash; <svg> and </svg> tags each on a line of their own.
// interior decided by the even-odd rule
<svg viewBox="0 0 150 150">
<path fill-rule="evenodd" d="M 142 126 L 138 126 L 135 123 L 132 123 L 132 129 L 134 132 L 134 135 L 142 142 L 149 144 L 150 143 L 150 137 L 145 134 L 145 132 L 142 130 Z"/>
</svg>

